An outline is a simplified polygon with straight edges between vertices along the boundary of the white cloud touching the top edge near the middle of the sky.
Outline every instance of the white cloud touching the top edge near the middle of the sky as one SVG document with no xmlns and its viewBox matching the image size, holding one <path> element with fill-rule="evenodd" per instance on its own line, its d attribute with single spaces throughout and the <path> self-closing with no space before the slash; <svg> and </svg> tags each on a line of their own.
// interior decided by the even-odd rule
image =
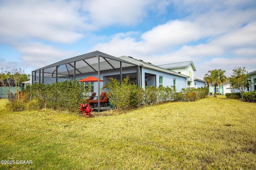
<svg viewBox="0 0 256 170">
<path fill-rule="evenodd" d="M 146 0 L 86 0 L 83 10 L 95 26 L 134 25 L 146 16 L 147 4 Z"/>
</svg>

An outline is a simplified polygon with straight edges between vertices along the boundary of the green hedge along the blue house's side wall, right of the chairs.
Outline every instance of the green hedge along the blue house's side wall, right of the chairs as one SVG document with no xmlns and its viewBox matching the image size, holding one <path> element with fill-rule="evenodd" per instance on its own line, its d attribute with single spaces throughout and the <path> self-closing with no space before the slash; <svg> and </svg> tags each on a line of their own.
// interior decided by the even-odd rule
<svg viewBox="0 0 256 170">
<path fill-rule="evenodd" d="M 125 110 L 140 105 L 153 105 L 161 102 L 179 101 L 186 98 L 188 102 L 206 97 L 208 88 L 188 88 L 176 92 L 175 87 L 146 86 L 145 89 L 131 85 L 128 82 L 120 84 L 118 80 L 111 79 L 106 85 L 110 102 L 117 110 Z"/>
</svg>

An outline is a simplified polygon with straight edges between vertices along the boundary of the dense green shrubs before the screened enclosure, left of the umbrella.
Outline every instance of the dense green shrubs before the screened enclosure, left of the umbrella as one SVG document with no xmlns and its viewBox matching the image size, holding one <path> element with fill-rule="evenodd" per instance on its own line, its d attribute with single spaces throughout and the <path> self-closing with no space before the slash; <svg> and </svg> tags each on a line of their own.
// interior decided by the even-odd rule
<svg viewBox="0 0 256 170">
<path fill-rule="evenodd" d="M 70 82 L 57 82 L 52 84 L 38 84 L 26 85 L 23 90 L 24 94 L 30 96 L 31 100 L 40 101 L 39 105 L 59 110 L 77 111 L 80 103 L 85 103 L 88 98 L 90 87 L 85 88 L 83 83 L 78 80 Z M 36 102 L 36 103 L 38 103 Z M 34 104 L 30 104 L 34 105 Z M 34 106 L 30 106 L 34 108 Z M 37 108 L 37 106 L 35 107 Z"/>
</svg>

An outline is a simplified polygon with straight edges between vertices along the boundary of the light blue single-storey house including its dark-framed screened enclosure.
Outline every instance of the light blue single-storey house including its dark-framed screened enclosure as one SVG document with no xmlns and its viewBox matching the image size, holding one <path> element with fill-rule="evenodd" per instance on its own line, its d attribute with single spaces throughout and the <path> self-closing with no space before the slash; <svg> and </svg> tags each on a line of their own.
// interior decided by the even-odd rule
<svg viewBox="0 0 256 170">
<path fill-rule="evenodd" d="M 104 82 L 94 82 L 93 91 L 96 92 L 96 95 L 99 88 L 110 81 L 110 77 L 123 80 L 129 76 L 130 82 L 143 88 L 145 86 L 170 87 L 175 85 L 178 92 L 181 88 L 186 88 L 188 79 L 188 76 L 184 74 L 132 57 L 114 57 L 100 51 L 94 51 L 32 71 L 32 84 L 34 82 L 49 84 L 67 79 L 70 81 L 81 80 L 88 76 L 99 77 L 104 80 Z"/>
</svg>

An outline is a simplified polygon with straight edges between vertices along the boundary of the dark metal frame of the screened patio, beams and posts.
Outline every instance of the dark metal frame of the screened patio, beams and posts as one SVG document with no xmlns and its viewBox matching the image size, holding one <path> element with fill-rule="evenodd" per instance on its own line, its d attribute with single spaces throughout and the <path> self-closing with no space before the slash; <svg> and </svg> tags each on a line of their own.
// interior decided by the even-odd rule
<svg viewBox="0 0 256 170">
<path fill-rule="evenodd" d="M 64 59 L 48 66 L 33 70 L 32 84 L 37 81 L 37 74 L 39 77 L 38 83 L 44 83 L 45 74 L 48 74 L 48 77 L 51 75 L 52 78 L 54 78 L 55 76 L 55 82 L 58 82 L 58 76 L 68 76 L 69 78 L 73 76 L 73 80 L 75 80 L 77 74 L 98 72 L 98 95 L 100 95 L 100 71 L 120 69 L 120 82 L 122 83 L 122 68 L 132 66 L 136 66 L 137 68 L 137 85 L 140 86 L 140 75 L 138 73 L 140 69 L 138 65 L 119 59 L 112 55 L 102 53 L 100 51 L 93 51 L 91 53 L 86 53 L 69 59 Z M 99 111 L 100 98 L 98 98 L 98 112 Z"/>
</svg>

